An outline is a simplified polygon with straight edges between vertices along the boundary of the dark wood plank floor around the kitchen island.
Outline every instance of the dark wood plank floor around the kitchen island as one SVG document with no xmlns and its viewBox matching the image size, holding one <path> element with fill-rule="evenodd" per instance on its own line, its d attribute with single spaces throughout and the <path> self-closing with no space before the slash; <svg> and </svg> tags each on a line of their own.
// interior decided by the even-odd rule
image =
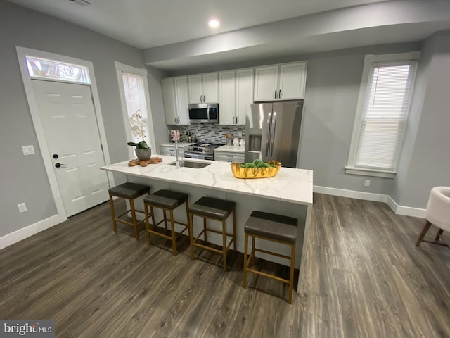
<svg viewBox="0 0 450 338">
<path fill-rule="evenodd" d="M 0 251 L 0 318 L 56 320 L 56 337 L 450 337 L 450 250 L 416 248 L 422 226 L 383 203 L 314 194 L 290 306 L 280 282 L 249 275 L 241 287 L 241 253 L 226 273 L 219 254 L 191 261 L 187 237 L 172 256 L 163 239 L 115 234 L 103 204 Z"/>
</svg>

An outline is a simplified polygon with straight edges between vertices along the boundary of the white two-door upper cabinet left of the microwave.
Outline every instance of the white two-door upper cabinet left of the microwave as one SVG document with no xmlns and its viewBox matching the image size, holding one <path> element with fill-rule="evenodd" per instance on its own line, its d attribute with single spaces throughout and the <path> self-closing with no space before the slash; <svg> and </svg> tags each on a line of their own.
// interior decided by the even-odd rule
<svg viewBox="0 0 450 338">
<path fill-rule="evenodd" d="M 189 124 L 188 80 L 186 76 L 162 79 L 162 99 L 167 125 Z"/>
</svg>

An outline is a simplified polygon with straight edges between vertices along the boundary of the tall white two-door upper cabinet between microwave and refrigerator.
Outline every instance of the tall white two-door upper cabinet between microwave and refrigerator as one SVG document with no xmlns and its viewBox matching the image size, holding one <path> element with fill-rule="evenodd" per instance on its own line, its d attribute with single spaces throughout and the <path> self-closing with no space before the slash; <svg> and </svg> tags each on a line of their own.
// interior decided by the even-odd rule
<svg viewBox="0 0 450 338">
<path fill-rule="evenodd" d="M 247 105 L 252 103 L 253 69 L 219 72 L 220 125 L 245 125 Z"/>
</svg>

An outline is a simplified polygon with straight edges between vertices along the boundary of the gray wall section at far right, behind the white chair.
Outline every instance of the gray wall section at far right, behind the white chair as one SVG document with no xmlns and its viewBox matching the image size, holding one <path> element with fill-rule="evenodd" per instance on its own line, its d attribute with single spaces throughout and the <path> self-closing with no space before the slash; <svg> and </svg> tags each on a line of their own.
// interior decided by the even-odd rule
<svg viewBox="0 0 450 338">
<path fill-rule="evenodd" d="M 410 118 L 416 137 L 406 140 L 401 160 L 407 170 L 393 192 L 397 204 L 417 208 L 425 208 L 432 187 L 450 186 L 450 32 L 425 41 L 422 61 Z"/>
</svg>

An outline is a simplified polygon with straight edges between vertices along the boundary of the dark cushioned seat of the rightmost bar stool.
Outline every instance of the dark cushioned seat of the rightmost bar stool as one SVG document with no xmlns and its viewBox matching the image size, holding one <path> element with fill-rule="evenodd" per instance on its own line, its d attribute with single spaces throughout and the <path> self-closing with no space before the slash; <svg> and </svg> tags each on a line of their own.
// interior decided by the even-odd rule
<svg viewBox="0 0 450 338">
<path fill-rule="evenodd" d="M 297 219 L 274 213 L 253 211 L 245 223 L 244 232 L 282 242 L 295 243 Z"/>
</svg>

